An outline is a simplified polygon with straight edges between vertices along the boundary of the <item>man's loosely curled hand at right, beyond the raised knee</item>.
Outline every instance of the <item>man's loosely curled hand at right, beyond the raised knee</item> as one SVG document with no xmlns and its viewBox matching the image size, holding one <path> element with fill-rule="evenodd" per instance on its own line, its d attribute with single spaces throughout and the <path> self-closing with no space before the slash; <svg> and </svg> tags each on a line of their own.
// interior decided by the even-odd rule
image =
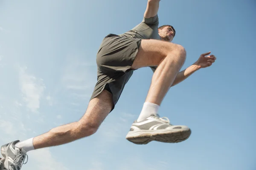
<svg viewBox="0 0 256 170">
<path fill-rule="evenodd" d="M 205 68 L 211 66 L 212 63 L 215 62 L 216 57 L 214 55 L 209 55 L 210 53 L 211 52 L 201 54 L 198 61 L 195 62 L 195 65 L 197 65 L 198 68 Z"/>
</svg>

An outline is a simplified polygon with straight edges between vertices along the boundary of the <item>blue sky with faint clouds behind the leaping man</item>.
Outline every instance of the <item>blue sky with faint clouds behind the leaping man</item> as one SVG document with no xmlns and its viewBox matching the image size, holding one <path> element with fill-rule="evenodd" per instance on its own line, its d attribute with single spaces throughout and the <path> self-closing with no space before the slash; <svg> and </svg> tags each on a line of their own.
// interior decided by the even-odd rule
<svg viewBox="0 0 256 170">
<path fill-rule="evenodd" d="M 143 19 L 146 0 L 0 0 L 0 143 L 79 120 L 96 83 L 96 52 L 109 33 Z M 183 69 L 211 51 L 209 68 L 169 90 L 160 116 L 187 125 L 178 144 L 125 139 L 151 82 L 139 69 L 99 131 L 28 153 L 25 170 L 255 170 L 256 3 L 161 0 L 160 25 L 186 48 Z"/>
</svg>

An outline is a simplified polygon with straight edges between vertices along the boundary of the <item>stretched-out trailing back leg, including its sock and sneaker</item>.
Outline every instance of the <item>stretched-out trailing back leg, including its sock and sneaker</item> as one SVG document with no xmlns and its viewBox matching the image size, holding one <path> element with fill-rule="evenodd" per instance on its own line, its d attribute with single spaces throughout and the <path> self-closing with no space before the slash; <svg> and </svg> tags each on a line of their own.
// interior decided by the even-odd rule
<svg viewBox="0 0 256 170">
<path fill-rule="evenodd" d="M 33 138 L 31 145 L 35 149 L 52 147 L 92 135 L 98 130 L 112 107 L 112 94 L 103 90 L 89 102 L 87 111 L 79 121 L 53 128 Z M 26 141 L 13 141 L 1 147 L 1 153 L 5 157 L 4 166 L 8 170 L 20 170 L 27 152 L 24 148 L 29 148 L 26 145 L 28 145 Z"/>
</svg>

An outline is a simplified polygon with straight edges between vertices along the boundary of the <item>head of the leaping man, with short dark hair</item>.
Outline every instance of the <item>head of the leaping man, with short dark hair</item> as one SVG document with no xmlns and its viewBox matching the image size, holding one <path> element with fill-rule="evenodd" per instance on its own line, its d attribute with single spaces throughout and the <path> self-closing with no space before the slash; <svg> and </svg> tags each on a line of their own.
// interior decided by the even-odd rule
<svg viewBox="0 0 256 170">
<path fill-rule="evenodd" d="M 170 25 L 163 25 L 158 28 L 158 34 L 164 41 L 171 42 L 173 37 L 175 36 L 175 29 Z"/>
</svg>

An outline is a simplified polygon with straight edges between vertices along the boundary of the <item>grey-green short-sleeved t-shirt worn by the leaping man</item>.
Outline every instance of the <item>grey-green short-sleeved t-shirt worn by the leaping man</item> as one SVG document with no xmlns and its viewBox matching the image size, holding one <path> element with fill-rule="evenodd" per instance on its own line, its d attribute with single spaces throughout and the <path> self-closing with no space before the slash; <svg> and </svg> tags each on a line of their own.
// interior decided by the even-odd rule
<svg viewBox="0 0 256 170">
<path fill-rule="evenodd" d="M 129 38 L 160 40 L 160 36 L 158 34 L 158 25 L 159 25 L 158 15 L 151 18 L 143 17 L 143 20 L 141 23 L 139 23 L 130 31 L 125 32 L 119 36 L 124 36 Z M 157 69 L 157 66 L 150 66 L 150 68 L 154 72 Z"/>
</svg>

